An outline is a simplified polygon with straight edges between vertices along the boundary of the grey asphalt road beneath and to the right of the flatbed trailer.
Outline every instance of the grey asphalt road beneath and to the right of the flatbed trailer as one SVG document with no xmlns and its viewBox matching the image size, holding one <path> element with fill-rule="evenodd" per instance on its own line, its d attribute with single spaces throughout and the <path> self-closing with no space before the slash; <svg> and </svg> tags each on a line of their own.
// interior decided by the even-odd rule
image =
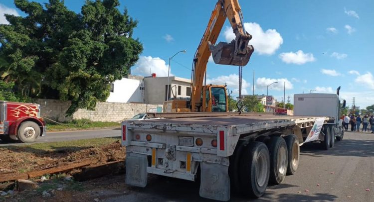
<svg viewBox="0 0 374 202">
<path fill-rule="evenodd" d="M 105 201 L 210 201 L 200 198 L 198 191 L 198 183 L 149 175 L 146 188 L 126 186 L 125 193 L 113 193 Z M 328 151 L 315 144 L 304 145 L 295 175 L 287 176 L 281 185 L 269 186 L 260 199 L 247 199 L 231 192 L 231 201 L 373 202 L 374 134 L 346 132 L 344 140 Z"/>
</svg>

